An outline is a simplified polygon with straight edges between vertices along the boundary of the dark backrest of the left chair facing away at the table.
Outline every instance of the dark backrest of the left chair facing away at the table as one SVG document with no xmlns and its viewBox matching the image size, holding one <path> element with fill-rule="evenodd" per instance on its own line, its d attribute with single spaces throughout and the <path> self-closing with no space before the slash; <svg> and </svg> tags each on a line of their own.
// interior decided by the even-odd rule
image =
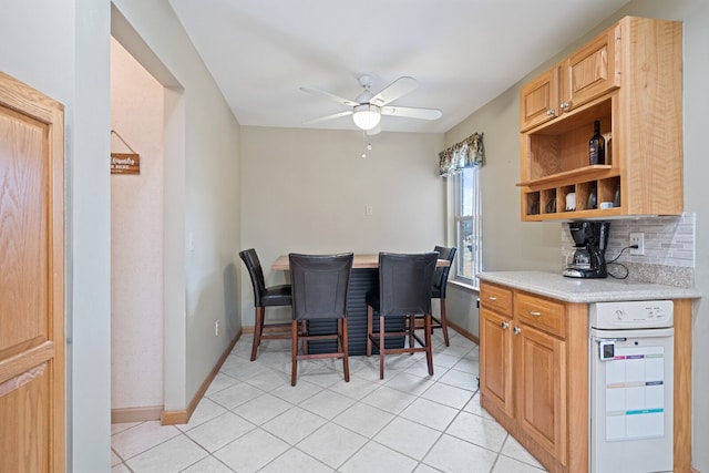
<svg viewBox="0 0 709 473">
<path fill-rule="evenodd" d="M 292 317 L 341 319 L 347 317 L 347 291 L 354 255 L 289 254 Z"/>
</svg>

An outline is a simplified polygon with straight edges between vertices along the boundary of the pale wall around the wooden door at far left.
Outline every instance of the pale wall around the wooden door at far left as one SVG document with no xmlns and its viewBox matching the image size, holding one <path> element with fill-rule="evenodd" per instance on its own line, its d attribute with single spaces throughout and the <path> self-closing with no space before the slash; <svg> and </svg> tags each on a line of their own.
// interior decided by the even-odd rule
<svg viewBox="0 0 709 473">
<path fill-rule="evenodd" d="M 0 69 L 64 105 L 66 471 L 111 462 L 110 2 L 3 1 Z"/>
</svg>

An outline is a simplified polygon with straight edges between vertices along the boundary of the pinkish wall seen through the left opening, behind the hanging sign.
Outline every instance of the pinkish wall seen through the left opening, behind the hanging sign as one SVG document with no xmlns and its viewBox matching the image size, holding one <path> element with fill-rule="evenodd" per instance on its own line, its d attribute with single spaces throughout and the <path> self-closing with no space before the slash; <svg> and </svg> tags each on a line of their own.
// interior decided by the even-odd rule
<svg viewBox="0 0 709 473">
<path fill-rule="evenodd" d="M 111 151 L 141 160 L 111 175 L 112 410 L 163 405 L 163 86 L 112 39 Z"/>
</svg>

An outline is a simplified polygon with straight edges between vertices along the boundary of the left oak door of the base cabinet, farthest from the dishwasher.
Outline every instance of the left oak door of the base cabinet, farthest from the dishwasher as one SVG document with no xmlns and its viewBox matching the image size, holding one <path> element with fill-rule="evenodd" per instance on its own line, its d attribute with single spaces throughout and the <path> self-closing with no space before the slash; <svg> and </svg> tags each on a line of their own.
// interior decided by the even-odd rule
<svg viewBox="0 0 709 473">
<path fill-rule="evenodd" d="M 485 307 L 480 316 L 480 389 L 491 403 L 512 417 L 512 320 Z"/>
</svg>

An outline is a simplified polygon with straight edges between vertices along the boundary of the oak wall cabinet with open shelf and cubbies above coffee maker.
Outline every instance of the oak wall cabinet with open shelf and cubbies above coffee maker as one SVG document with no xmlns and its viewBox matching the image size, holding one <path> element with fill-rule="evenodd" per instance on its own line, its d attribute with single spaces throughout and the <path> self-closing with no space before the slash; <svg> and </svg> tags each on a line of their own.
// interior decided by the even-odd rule
<svg viewBox="0 0 709 473">
<path fill-rule="evenodd" d="M 684 210 L 681 42 L 679 22 L 626 17 L 522 88 L 523 220 Z M 595 121 L 606 162 L 592 166 Z"/>
</svg>

